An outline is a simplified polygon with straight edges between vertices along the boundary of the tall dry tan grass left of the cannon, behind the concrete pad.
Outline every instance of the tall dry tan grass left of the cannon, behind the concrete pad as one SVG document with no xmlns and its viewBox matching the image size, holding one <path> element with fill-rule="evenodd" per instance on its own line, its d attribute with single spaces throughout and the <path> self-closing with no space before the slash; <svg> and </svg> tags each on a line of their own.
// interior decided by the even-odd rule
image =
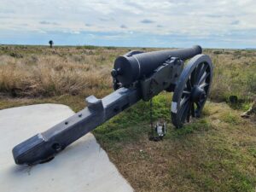
<svg viewBox="0 0 256 192">
<path fill-rule="evenodd" d="M 22 58 L 0 55 L 0 92 L 19 97 L 103 96 L 112 84 L 110 58 L 120 54 L 111 49 L 42 49 L 38 54 L 16 51 Z"/>
</svg>

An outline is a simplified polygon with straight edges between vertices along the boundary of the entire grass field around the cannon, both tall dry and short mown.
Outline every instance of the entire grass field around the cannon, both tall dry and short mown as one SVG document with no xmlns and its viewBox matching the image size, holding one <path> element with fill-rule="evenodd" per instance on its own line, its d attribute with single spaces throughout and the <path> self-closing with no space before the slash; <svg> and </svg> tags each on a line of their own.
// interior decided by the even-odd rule
<svg viewBox="0 0 256 192">
<path fill-rule="evenodd" d="M 84 97 L 113 91 L 113 61 L 130 49 L 2 45 L 0 108 L 55 102 L 79 111 Z M 214 77 L 201 119 L 175 130 L 172 94 L 163 92 L 154 97 L 154 120 L 167 122 L 163 141 L 148 141 L 147 102 L 93 131 L 136 191 L 256 191 L 256 118 L 240 117 L 256 99 L 256 51 L 204 53 L 212 58 Z M 230 96 L 238 101 L 230 103 Z"/>
</svg>

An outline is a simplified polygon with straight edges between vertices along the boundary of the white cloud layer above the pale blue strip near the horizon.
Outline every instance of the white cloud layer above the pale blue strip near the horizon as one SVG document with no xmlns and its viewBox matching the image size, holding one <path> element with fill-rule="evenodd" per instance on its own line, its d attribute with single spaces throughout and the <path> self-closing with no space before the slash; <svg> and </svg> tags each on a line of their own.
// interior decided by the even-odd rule
<svg viewBox="0 0 256 192">
<path fill-rule="evenodd" d="M 0 4 L 0 30 L 78 34 L 129 29 L 198 38 L 256 30 L 255 0 L 0 0 Z"/>
</svg>

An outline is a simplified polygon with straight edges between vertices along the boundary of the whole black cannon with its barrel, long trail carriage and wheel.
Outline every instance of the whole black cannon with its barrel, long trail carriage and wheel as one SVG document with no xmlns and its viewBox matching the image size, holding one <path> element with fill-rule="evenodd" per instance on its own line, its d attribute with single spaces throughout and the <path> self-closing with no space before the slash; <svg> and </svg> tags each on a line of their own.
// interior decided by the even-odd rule
<svg viewBox="0 0 256 192">
<path fill-rule="evenodd" d="M 212 61 L 200 46 L 143 53 L 131 51 L 114 61 L 115 90 L 102 99 L 89 96 L 87 108 L 38 133 L 13 148 L 18 165 L 52 160 L 55 154 L 116 114 L 161 91 L 173 91 L 172 123 L 181 128 L 190 117 L 200 117 L 212 82 Z M 184 61 L 192 58 L 184 67 Z M 184 67 L 184 68 L 183 68 Z"/>
</svg>

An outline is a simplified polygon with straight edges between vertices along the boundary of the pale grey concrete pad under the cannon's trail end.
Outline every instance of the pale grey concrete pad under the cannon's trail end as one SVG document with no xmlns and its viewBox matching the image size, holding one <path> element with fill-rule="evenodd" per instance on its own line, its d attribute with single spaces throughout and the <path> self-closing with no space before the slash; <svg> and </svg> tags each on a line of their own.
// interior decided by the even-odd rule
<svg viewBox="0 0 256 192">
<path fill-rule="evenodd" d="M 48 163 L 15 165 L 12 148 L 16 144 L 72 114 L 70 108 L 57 104 L 0 110 L 0 191 L 133 191 L 90 133 Z"/>
</svg>

